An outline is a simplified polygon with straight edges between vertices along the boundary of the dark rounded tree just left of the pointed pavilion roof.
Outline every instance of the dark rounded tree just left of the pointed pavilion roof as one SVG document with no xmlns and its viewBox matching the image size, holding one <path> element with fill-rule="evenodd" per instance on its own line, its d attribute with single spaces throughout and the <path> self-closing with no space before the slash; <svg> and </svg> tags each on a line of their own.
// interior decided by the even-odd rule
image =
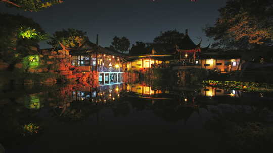
<svg viewBox="0 0 273 153">
<path fill-rule="evenodd" d="M 171 52 L 175 49 L 175 45 L 179 44 L 184 38 L 184 34 L 177 30 L 169 30 L 161 32 L 160 36 L 155 37 L 153 46 L 156 50 L 162 52 Z"/>
</svg>

